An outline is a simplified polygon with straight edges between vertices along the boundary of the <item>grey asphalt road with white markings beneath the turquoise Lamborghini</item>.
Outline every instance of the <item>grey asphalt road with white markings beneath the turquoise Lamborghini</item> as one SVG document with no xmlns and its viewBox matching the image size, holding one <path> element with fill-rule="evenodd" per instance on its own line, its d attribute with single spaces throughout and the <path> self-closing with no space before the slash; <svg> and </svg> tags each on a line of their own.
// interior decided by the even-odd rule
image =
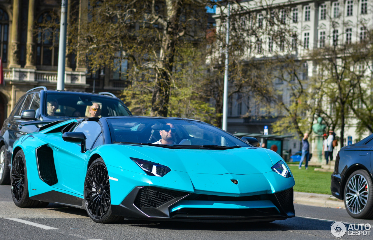
<svg viewBox="0 0 373 240">
<path fill-rule="evenodd" d="M 85 210 L 49 204 L 46 208 L 18 208 L 10 186 L 0 186 L 0 239 L 335 239 L 330 233 L 334 221 L 369 223 L 351 218 L 346 210 L 295 204 L 297 217 L 272 223 L 152 223 L 124 221 L 97 224 Z M 41 225 L 38 225 L 41 224 Z M 373 232 L 373 228 L 371 230 Z M 342 239 L 372 239 L 347 236 Z"/>
</svg>

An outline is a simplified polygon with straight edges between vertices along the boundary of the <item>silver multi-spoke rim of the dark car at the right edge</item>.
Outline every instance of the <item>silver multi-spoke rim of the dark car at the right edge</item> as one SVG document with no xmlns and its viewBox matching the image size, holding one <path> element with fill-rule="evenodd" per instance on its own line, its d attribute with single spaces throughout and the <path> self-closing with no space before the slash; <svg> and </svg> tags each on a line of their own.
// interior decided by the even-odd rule
<svg viewBox="0 0 373 240">
<path fill-rule="evenodd" d="M 361 174 L 352 176 L 345 191 L 345 202 L 348 210 L 353 214 L 361 213 L 368 202 L 368 197 L 367 179 Z"/>
</svg>

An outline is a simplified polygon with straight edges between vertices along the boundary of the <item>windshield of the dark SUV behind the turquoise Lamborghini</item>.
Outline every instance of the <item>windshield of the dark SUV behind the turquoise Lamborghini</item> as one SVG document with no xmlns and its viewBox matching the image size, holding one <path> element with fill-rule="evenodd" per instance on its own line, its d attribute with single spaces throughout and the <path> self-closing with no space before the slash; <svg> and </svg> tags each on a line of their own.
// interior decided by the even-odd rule
<svg viewBox="0 0 373 240">
<path fill-rule="evenodd" d="M 85 94 L 47 93 L 44 103 L 46 116 L 109 117 L 129 116 L 123 104 L 116 98 Z"/>
</svg>

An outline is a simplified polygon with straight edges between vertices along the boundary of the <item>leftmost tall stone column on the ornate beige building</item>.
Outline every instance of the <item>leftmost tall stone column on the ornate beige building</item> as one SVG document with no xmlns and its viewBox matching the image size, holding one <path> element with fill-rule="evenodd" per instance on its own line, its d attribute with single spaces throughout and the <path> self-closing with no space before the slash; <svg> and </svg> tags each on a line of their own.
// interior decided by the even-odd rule
<svg viewBox="0 0 373 240">
<path fill-rule="evenodd" d="M 13 20 L 12 20 L 12 41 L 10 43 L 10 63 L 9 68 L 20 68 L 19 65 L 19 41 L 18 41 L 18 22 L 19 22 L 19 0 L 13 0 Z"/>
</svg>

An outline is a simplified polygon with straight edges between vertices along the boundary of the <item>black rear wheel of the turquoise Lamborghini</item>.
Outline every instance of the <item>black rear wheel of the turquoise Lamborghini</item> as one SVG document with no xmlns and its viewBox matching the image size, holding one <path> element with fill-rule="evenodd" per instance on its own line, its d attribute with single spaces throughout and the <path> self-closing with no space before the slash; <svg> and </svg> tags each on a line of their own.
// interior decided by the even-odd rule
<svg viewBox="0 0 373 240">
<path fill-rule="evenodd" d="M 28 195 L 26 159 L 22 150 L 19 150 L 12 163 L 11 188 L 14 204 L 20 208 L 46 207 L 48 202 L 31 200 Z"/>
</svg>

